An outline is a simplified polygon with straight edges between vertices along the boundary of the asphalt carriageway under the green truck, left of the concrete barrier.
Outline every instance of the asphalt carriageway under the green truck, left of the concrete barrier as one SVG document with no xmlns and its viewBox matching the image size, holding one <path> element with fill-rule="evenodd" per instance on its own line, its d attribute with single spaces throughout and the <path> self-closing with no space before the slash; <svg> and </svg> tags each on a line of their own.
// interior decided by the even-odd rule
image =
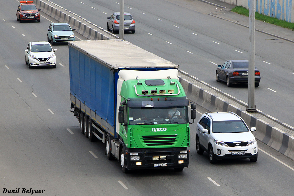
<svg viewBox="0 0 294 196">
<path fill-rule="evenodd" d="M 258 143 L 256 163 L 245 159 L 212 165 L 207 153 L 196 153 L 196 123 L 190 125 L 190 164 L 183 172 L 162 169 L 123 174 L 117 161 L 106 159 L 103 143 L 89 142 L 80 133 L 78 120 L 69 112 L 68 46 L 54 46 L 56 68 L 25 65 L 27 44 L 46 41 L 49 20 L 54 19 L 42 16 L 40 23 L 20 24 L 15 16 L 17 5 L 8 1 L 0 6 L 0 32 L 5 35 L 0 40 L 1 193 L 4 188 L 20 188 L 20 192 L 25 188 L 45 190 L 39 195 L 62 196 L 293 195 L 292 160 Z M 197 118 L 206 112 L 197 110 Z"/>
</svg>

